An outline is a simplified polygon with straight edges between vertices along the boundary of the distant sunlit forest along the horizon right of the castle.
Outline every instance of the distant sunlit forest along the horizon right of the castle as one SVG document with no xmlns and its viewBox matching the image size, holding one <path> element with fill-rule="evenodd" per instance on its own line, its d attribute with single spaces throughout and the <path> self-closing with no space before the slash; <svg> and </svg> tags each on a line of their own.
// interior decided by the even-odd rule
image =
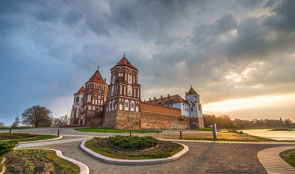
<svg viewBox="0 0 295 174">
<path fill-rule="evenodd" d="M 235 119 L 232 120 L 228 115 L 209 115 L 203 114 L 204 126 L 211 126 L 213 123 L 216 123 L 217 129 L 241 129 L 249 127 L 261 127 L 261 128 L 294 128 L 295 123 L 289 118 L 285 120 L 280 119 L 252 119 L 250 120 L 241 120 Z"/>
</svg>

